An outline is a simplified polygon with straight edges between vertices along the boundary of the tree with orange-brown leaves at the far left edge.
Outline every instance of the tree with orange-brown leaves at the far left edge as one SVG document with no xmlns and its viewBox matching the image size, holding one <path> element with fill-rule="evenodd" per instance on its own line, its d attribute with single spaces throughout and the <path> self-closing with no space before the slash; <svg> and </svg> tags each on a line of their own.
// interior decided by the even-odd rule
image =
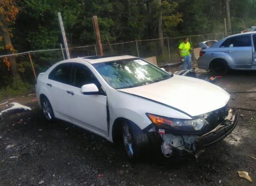
<svg viewBox="0 0 256 186">
<path fill-rule="evenodd" d="M 2 49 L 5 49 L 7 54 L 14 54 L 14 48 L 11 42 L 12 33 L 11 29 L 8 27 L 10 24 L 14 23 L 17 13 L 18 8 L 16 7 L 14 0 L 0 1 L 0 30 L 4 42 Z M 7 59 L 5 58 L 4 60 L 6 61 Z M 8 61 L 6 64 L 8 64 Z M 10 57 L 10 67 L 12 75 L 14 77 L 18 76 L 17 64 L 14 56 Z"/>
</svg>

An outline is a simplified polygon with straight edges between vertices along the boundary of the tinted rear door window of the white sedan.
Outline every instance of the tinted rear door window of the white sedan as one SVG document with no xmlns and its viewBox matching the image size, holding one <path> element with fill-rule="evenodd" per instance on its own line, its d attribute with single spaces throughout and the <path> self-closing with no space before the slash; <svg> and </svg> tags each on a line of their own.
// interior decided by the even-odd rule
<svg viewBox="0 0 256 186">
<path fill-rule="evenodd" d="M 70 84 L 72 64 L 64 63 L 56 66 L 49 74 L 49 79 L 65 84 Z"/>
</svg>

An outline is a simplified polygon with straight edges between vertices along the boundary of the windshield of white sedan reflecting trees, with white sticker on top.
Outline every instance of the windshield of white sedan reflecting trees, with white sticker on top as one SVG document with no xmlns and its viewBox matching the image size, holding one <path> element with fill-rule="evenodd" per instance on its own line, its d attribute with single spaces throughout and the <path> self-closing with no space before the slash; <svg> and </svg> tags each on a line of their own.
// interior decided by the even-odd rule
<svg viewBox="0 0 256 186">
<path fill-rule="evenodd" d="M 140 58 L 92 64 L 104 80 L 115 89 L 132 88 L 172 77 Z"/>
</svg>

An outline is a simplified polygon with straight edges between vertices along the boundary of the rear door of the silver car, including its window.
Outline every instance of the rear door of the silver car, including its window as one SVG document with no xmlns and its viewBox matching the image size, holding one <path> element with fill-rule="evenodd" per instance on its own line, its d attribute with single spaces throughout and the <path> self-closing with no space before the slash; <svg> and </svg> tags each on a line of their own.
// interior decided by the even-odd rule
<svg viewBox="0 0 256 186">
<path fill-rule="evenodd" d="M 251 68 L 253 62 L 251 34 L 226 39 L 220 50 L 232 68 Z"/>
</svg>

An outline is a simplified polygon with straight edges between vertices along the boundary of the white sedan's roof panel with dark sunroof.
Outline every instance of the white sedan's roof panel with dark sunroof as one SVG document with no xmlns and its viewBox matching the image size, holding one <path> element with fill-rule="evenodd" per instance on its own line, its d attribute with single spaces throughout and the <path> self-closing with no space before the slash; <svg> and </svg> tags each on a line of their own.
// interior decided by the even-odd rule
<svg viewBox="0 0 256 186">
<path fill-rule="evenodd" d="M 116 61 L 116 60 L 131 59 L 131 58 L 137 58 L 137 57 L 112 54 L 112 55 L 103 55 L 103 56 L 87 56 L 87 57 L 72 58 L 72 60 L 79 59 L 79 60 L 84 60 L 86 62 L 89 62 L 90 64 L 94 64 L 94 63 L 100 63 L 100 62 Z M 68 62 L 69 60 L 65 60 L 65 61 Z"/>
</svg>

